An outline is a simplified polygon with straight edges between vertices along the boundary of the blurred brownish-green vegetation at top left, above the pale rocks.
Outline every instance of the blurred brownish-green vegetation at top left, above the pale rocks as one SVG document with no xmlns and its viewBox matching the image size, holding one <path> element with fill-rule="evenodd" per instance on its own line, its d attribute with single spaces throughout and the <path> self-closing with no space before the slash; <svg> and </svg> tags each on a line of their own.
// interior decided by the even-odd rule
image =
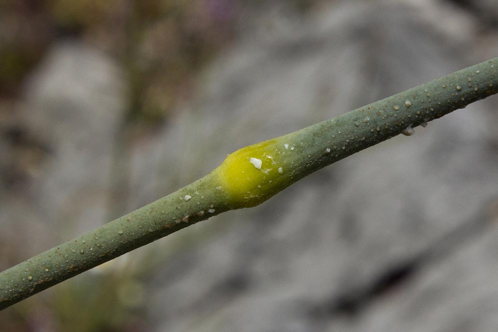
<svg viewBox="0 0 498 332">
<path fill-rule="evenodd" d="M 105 50 L 129 78 L 130 118 L 163 119 L 187 98 L 192 77 L 234 35 L 237 1 L 4 0 L 0 3 L 0 96 L 59 38 Z"/>
</svg>

